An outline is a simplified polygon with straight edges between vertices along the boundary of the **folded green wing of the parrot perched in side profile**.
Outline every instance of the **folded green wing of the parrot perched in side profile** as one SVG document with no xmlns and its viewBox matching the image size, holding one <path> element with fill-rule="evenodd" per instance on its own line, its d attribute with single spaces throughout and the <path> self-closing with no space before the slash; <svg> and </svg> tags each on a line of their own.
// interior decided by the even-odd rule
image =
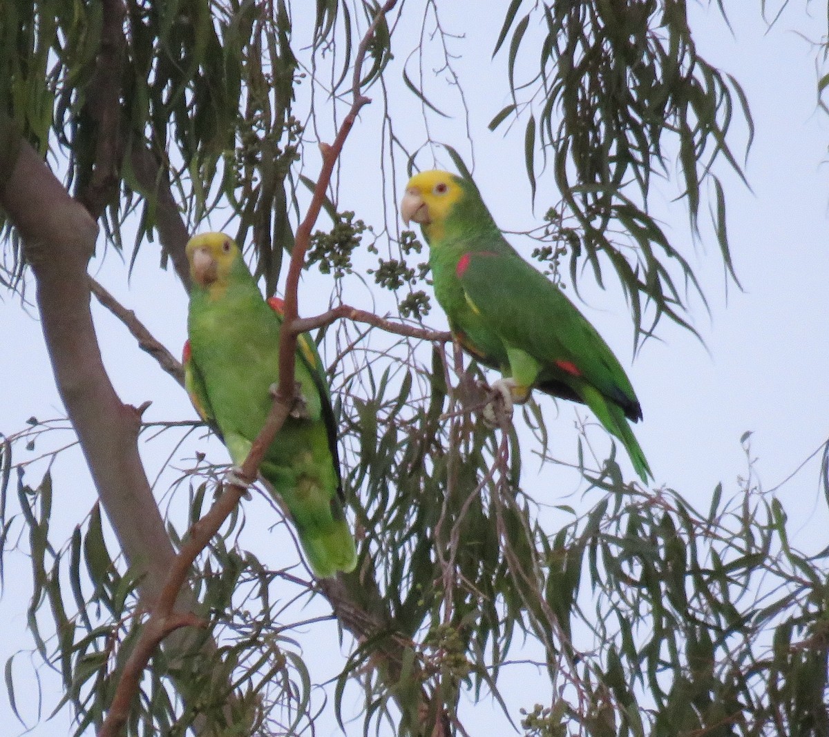
<svg viewBox="0 0 829 737">
<path fill-rule="evenodd" d="M 631 420 L 642 417 L 633 387 L 608 344 L 541 272 L 517 255 L 482 250 L 464 254 L 456 275 L 469 306 L 504 344 L 541 364 L 541 384 L 581 379 Z"/>
</svg>

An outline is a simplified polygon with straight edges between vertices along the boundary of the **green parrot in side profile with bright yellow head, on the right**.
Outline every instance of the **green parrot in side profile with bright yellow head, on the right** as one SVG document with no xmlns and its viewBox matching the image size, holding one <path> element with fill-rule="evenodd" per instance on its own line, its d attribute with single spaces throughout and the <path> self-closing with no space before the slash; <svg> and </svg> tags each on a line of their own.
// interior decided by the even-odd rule
<svg viewBox="0 0 829 737">
<path fill-rule="evenodd" d="M 647 484 L 652 473 L 628 425 L 642 419 L 642 407 L 624 369 L 564 293 L 507 243 L 473 182 L 448 171 L 416 174 L 400 214 L 423 229 L 454 340 L 502 373 L 495 388 L 507 408 L 533 388 L 583 402 Z"/>
</svg>

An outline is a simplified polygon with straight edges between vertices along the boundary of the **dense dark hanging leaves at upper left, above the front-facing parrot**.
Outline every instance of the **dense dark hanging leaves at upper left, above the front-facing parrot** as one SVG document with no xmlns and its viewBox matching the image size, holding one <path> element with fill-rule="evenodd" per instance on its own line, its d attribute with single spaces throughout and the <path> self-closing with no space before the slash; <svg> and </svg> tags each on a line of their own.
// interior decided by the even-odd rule
<svg viewBox="0 0 829 737">
<path fill-rule="evenodd" d="M 80 199 L 106 207 L 109 238 L 120 245 L 140 208 L 134 259 L 154 238 L 159 191 L 172 185 L 190 225 L 227 204 L 242 214 L 237 240 L 250 234 L 275 287 L 293 245 L 289 176 L 302 132 L 285 3 L 273 15 L 204 0 L 43 0 L 3 12 L 0 110 L 41 152 L 66 157 Z M 107 94 L 120 102 L 109 118 Z"/>
</svg>

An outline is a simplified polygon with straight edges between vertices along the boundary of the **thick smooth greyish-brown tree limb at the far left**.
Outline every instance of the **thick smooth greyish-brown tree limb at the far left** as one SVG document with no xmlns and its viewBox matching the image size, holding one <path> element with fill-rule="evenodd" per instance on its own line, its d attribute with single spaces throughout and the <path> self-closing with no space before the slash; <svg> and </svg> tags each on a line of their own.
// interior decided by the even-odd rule
<svg viewBox="0 0 829 737">
<path fill-rule="evenodd" d="M 34 149 L 14 135 L 0 114 L 0 141 L 8 168 L 0 181 L 0 206 L 23 242 L 36 282 L 36 303 L 58 393 L 90 469 L 99 499 L 143 600 L 158 600 L 175 559 L 167 530 L 138 454 L 140 412 L 120 401 L 101 359 L 90 312 L 87 263 L 97 225 L 73 200 Z M 12 138 L 15 140 L 12 141 Z M 17 157 L 8 157 L 16 150 Z M 179 611 L 196 611 L 189 587 L 177 597 Z M 177 632 L 172 652 L 191 648 Z M 206 647 L 211 647 L 208 644 Z"/>
</svg>

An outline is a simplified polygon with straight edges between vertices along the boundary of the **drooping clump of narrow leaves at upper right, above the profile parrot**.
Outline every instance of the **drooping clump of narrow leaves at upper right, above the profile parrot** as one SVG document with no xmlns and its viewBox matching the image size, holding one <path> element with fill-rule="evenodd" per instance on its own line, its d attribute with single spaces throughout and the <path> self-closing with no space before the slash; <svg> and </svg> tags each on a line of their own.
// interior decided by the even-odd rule
<svg viewBox="0 0 829 737">
<path fill-rule="evenodd" d="M 669 176 L 676 160 L 694 232 L 710 180 L 720 253 L 736 278 L 725 201 L 712 166 L 723 158 L 742 176 L 726 141 L 735 108 L 749 126 L 749 143 L 753 126 L 737 81 L 697 53 L 685 0 L 512 0 L 494 55 L 502 50 L 512 102 L 490 128 L 526 120 L 525 166 L 533 191 L 541 161 L 561 193 L 560 209 L 575 222 L 569 243 L 573 283 L 589 263 L 604 285 L 609 267 L 628 298 L 638 335 L 651 334 L 662 316 L 691 329 L 679 285 L 704 295 L 690 263 L 648 213 L 652 176 Z M 529 59 L 536 65 L 531 75 Z M 635 249 L 614 242 L 618 227 Z M 681 281 L 667 269 L 669 261 L 679 267 Z M 654 310 L 649 325 L 646 304 Z"/>
</svg>

